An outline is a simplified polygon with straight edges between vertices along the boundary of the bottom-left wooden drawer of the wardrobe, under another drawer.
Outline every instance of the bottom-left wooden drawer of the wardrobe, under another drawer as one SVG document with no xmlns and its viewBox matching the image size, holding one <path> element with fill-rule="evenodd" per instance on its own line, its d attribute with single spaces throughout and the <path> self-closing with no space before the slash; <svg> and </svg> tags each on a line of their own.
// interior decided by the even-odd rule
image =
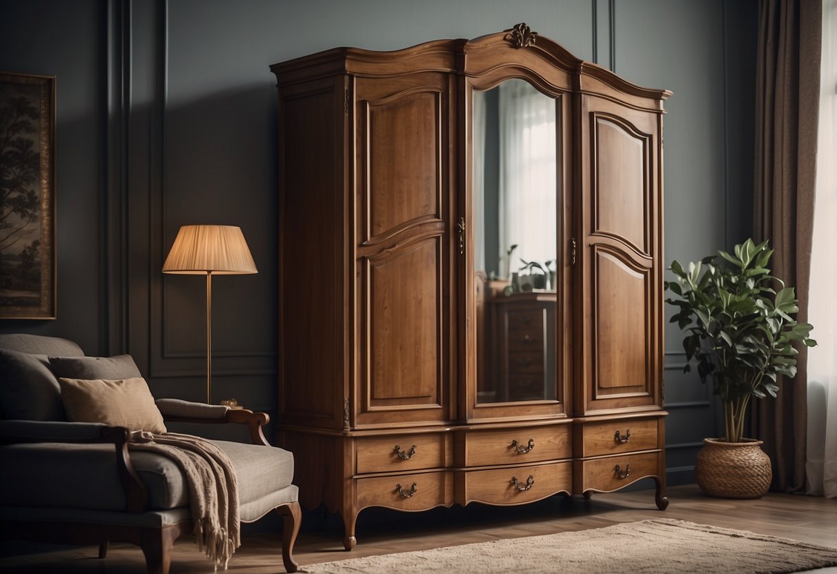
<svg viewBox="0 0 837 574">
<path fill-rule="evenodd" d="M 387 506 L 397 510 L 427 510 L 454 504 L 451 472 L 396 474 L 357 479 L 357 510 Z"/>
</svg>

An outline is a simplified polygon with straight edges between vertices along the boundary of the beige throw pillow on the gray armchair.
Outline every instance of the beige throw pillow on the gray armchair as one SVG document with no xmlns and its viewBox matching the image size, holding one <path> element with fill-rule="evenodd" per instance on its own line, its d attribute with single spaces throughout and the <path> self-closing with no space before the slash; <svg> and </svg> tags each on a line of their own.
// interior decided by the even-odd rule
<svg viewBox="0 0 837 574">
<path fill-rule="evenodd" d="M 160 409 L 142 377 L 105 380 L 59 377 L 67 419 L 165 433 Z"/>
</svg>

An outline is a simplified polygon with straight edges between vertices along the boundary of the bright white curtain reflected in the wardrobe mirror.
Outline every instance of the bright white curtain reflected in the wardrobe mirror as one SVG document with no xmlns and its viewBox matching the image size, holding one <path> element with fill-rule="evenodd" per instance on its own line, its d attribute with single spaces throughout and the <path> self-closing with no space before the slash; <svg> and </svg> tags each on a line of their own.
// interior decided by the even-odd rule
<svg viewBox="0 0 837 574">
<path fill-rule="evenodd" d="M 556 257 L 555 100 L 514 79 L 500 85 L 499 109 L 500 253 L 517 244 L 513 272 L 520 259 Z"/>
</svg>

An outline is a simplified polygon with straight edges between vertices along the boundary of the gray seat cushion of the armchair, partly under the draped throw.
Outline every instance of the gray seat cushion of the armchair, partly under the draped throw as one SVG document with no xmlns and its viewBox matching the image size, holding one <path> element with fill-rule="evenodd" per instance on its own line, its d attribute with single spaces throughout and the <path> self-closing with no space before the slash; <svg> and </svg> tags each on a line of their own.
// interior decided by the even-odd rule
<svg viewBox="0 0 837 574">
<path fill-rule="evenodd" d="M 229 456 L 239 484 L 239 516 L 252 522 L 296 500 L 290 488 L 294 457 L 282 448 L 213 440 Z M 125 510 L 112 444 L 21 443 L 0 446 L 0 506 Z M 149 508 L 188 505 L 183 474 L 162 454 L 131 451 L 131 463 L 148 489 Z M 60 488 L 55 477 L 60 476 Z"/>
</svg>

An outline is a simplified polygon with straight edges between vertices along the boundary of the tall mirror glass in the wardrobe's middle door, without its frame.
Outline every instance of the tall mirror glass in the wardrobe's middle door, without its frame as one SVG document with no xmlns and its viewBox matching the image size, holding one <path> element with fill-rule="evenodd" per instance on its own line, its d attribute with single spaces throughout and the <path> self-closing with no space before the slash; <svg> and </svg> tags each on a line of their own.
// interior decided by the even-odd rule
<svg viewBox="0 0 837 574">
<path fill-rule="evenodd" d="M 556 101 L 473 93 L 477 401 L 555 400 Z"/>
</svg>

